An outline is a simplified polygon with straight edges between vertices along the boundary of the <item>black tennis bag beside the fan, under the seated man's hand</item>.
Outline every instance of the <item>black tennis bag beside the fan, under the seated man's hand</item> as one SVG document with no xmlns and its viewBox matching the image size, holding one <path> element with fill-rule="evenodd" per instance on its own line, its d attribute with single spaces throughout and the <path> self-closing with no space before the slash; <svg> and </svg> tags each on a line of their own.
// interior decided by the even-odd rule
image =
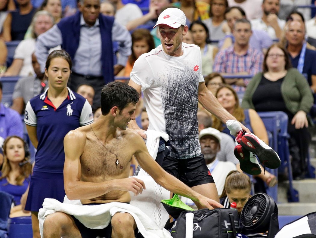
<svg viewBox="0 0 316 238">
<path fill-rule="evenodd" d="M 236 238 L 240 233 L 238 211 L 230 208 L 216 208 L 213 210 L 200 209 L 197 211 L 183 211 L 171 228 L 174 238 L 185 237 L 185 214 L 192 212 L 193 238 Z"/>
</svg>

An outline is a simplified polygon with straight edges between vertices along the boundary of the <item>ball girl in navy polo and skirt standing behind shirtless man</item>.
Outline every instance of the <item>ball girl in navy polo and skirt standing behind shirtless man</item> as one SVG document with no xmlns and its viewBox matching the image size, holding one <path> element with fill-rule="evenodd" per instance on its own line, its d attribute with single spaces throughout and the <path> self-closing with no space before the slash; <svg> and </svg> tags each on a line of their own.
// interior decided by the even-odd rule
<svg viewBox="0 0 316 238">
<path fill-rule="evenodd" d="M 33 97 L 25 109 L 27 133 L 37 149 L 25 206 L 32 212 L 33 237 L 40 237 L 37 216 L 44 199 L 64 200 L 65 135 L 93 122 L 88 101 L 67 87 L 71 66 L 66 51 L 50 53 L 45 65 L 49 88 Z"/>
</svg>

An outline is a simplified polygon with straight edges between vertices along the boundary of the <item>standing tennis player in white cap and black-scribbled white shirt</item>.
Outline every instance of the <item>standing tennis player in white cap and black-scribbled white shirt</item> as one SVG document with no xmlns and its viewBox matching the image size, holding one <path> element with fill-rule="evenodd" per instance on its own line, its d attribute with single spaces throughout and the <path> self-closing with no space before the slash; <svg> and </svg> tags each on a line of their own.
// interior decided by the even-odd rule
<svg viewBox="0 0 316 238">
<path fill-rule="evenodd" d="M 194 191 L 218 201 L 216 186 L 198 141 L 197 102 L 224 123 L 236 119 L 206 88 L 200 48 L 182 43 L 188 31 L 185 14 L 180 9 L 168 8 L 159 15 L 157 26 L 161 45 L 136 60 L 129 85 L 139 93 L 143 91 L 148 129 L 169 135 L 170 150 L 161 141 L 156 161 L 161 161 L 162 168 Z M 134 121 L 129 127 L 146 138 Z"/>
</svg>

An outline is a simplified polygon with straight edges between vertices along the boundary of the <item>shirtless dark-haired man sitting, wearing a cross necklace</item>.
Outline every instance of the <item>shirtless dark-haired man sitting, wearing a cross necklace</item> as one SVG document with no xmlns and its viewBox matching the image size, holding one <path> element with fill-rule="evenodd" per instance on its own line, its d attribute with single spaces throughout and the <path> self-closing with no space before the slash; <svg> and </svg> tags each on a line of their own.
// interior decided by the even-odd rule
<svg viewBox="0 0 316 238">
<path fill-rule="evenodd" d="M 145 184 L 129 178 L 131 157 L 167 190 L 191 198 L 212 209 L 222 207 L 216 201 L 194 192 L 164 171 L 149 155 L 146 145 L 135 131 L 126 128 L 135 120 L 137 91 L 122 83 L 111 82 L 101 92 L 102 115 L 90 125 L 70 131 L 64 138 L 64 186 L 70 200 L 81 203 L 129 203 L 130 192 L 142 193 Z M 105 229 L 88 229 L 75 217 L 56 212 L 46 217 L 46 237 L 134 237 L 136 223 L 129 213 L 116 213 Z"/>
</svg>

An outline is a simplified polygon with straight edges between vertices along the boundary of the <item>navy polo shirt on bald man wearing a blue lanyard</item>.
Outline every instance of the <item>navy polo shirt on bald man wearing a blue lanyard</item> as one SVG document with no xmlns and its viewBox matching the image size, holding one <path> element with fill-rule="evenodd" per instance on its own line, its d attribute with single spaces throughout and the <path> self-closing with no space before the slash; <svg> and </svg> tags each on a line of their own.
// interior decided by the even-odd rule
<svg viewBox="0 0 316 238">
<path fill-rule="evenodd" d="M 301 52 L 294 58 L 289 54 L 293 68 L 297 68 Z M 306 49 L 303 74 L 307 74 L 307 81 L 312 85 L 312 75 L 316 75 L 316 51 Z"/>
</svg>

